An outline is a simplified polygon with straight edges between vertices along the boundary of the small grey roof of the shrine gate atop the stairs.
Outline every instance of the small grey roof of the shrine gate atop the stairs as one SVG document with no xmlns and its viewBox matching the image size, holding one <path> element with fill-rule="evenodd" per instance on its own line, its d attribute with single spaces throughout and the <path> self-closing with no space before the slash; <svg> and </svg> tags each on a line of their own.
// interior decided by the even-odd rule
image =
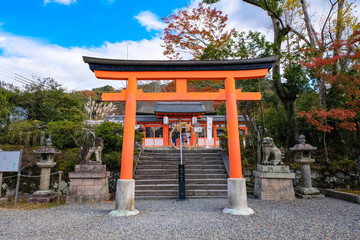
<svg viewBox="0 0 360 240">
<path fill-rule="evenodd" d="M 205 113 L 202 102 L 157 102 L 155 113 Z"/>
</svg>

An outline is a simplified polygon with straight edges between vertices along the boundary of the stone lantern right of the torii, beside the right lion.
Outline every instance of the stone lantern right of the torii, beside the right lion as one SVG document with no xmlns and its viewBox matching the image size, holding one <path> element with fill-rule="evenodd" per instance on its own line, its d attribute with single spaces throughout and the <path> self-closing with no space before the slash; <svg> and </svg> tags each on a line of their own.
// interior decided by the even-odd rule
<svg viewBox="0 0 360 240">
<path fill-rule="evenodd" d="M 296 195 L 303 198 L 314 198 L 322 196 L 318 189 L 312 187 L 310 164 L 315 162 L 311 158 L 311 151 L 316 147 L 306 144 L 304 135 L 299 136 L 299 144 L 296 144 L 290 150 L 295 152 L 295 162 L 300 164 L 302 186 L 296 188 Z"/>
</svg>

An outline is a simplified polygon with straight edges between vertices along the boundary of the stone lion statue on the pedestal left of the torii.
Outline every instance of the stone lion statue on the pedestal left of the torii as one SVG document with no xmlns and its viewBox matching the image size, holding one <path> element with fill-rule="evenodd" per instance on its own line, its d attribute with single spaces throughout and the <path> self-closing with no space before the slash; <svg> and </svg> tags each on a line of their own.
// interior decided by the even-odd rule
<svg viewBox="0 0 360 240">
<path fill-rule="evenodd" d="M 94 137 L 91 146 L 81 148 L 81 164 L 102 164 L 101 152 L 103 147 L 104 140 L 100 137 Z M 95 154 L 96 161 L 91 161 L 93 154 Z"/>
</svg>

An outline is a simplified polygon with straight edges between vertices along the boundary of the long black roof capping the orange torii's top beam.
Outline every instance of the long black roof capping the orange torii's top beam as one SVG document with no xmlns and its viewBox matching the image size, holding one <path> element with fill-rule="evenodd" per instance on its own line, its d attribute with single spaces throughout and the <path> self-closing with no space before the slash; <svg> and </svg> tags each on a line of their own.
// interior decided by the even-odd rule
<svg viewBox="0 0 360 240">
<path fill-rule="evenodd" d="M 91 71 L 236 71 L 270 69 L 277 56 L 231 60 L 121 60 L 83 56 Z"/>
</svg>

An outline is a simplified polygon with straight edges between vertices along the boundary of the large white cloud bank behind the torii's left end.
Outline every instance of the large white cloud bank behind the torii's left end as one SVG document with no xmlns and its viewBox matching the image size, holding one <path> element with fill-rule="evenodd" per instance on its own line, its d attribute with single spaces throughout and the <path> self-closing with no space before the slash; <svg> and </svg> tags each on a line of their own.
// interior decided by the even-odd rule
<svg viewBox="0 0 360 240">
<path fill-rule="evenodd" d="M 105 42 L 100 47 L 64 48 L 37 39 L 6 34 L 0 31 L 0 67 L 32 79 L 52 77 L 68 90 L 84 90 L 112 85 L 120 88 L 120 81 L 99 80 L 84 63 L 82 56 L 115 59 L 165 59 L 159 38 L 141 41 Z M 127 51 L 128 49 L 128 51 Z M 1 70 L 1 69 L 0 69 Z M 0 81 L 21 86 L 13 78 L 0 74 Z"/>
</svg>

